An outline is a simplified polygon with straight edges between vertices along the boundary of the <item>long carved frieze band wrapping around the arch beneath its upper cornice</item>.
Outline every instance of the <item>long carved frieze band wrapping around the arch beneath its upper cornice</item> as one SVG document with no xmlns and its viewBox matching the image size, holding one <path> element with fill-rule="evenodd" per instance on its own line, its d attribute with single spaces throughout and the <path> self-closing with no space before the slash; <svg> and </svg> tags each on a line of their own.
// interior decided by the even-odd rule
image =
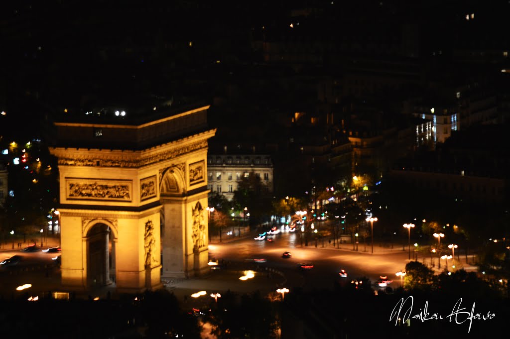
<svg viewBox="0 0 510 339">
<path fill-rule="evenodd" d="M 141 159 L 113 159 L 108 157 L 101 158 L 59 158 L 58 164 L 62 166 L 87 166 L 87 167 L 125 167 L 139 168 L 142 166 L 156 164 L 162 161 L 179 157 L 180 155 L 206 148 L 207 141 L 191 143 L 184 147 L 174 148 L 172 150 L 161 152 L 151 157 Z M 184 164 L 184 163 L 183 163 Z M 179 164 L 181 165 L 181 164 Z M 179 167 L 183 172 L 185 167 Z"/>
</svg>

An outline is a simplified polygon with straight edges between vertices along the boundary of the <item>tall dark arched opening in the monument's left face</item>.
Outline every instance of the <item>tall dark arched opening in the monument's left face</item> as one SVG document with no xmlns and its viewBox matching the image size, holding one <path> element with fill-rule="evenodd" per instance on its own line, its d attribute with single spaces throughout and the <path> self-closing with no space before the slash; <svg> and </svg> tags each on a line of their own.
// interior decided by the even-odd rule
<svg viewBox="0 0 510 339">
<path fill-rule="evenodd" d="M 112 229 L 96 223 L 87 232 L 86 246 L 87 285 L 98 288 L 114 282 L 116 239 Z"/>
</svg>

